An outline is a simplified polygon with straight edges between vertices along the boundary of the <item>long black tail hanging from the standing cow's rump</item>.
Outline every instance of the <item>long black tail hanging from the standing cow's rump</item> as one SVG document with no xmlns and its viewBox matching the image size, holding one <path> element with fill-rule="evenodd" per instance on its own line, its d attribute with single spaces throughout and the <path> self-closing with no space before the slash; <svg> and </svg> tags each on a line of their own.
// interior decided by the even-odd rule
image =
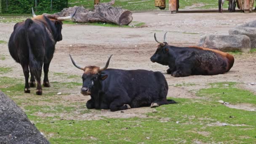
<svg viewBox="0 0 256 144">
<path fill-rule="evenodd" d="M 24 28 L 25 28 L 25 38 L 27 42 L 27 47 L 29 49 L 29 70 L 30 72 L 32 72 L 32 74 L 35 76 L 37 80 L 37 77 L 39 76 L 39 69 L 41 69 L 41 67 L 40 67 L 40 63 L 35 59 L 35 56 L 32 52 L 32 48 L 29 41 L 29 26 L 32 23 L 33 23 L 32 19 L 27 19 L 25 21 Z"/>
</svg>

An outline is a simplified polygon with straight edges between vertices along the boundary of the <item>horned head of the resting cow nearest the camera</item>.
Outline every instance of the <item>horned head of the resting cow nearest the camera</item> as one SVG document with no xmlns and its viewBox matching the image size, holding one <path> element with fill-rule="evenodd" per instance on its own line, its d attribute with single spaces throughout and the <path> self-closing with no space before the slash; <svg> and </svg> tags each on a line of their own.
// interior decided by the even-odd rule
<svg viewBox="0 0 256 144">
<path fill-rule="evenodd" d="M 87 96 L 87 95 L 91 95 L 91 92 L 99 90 L 99 88 L 101 87 L 100 85 L 101 81 L 107 78 L 107 75 L 104 74 L 104 72 L 102 71 L 107 69 L 107 67 L 109 66 L 109 61 L 112 55 L 109 56 L 109 59 L 107 60 L 107 63 L 103 68 L 96 67 L 96 66 L 80 67 L 75 63 L 75 61 L 73 60 L 70 54 L 69 56 L 74 66 L 84 71 L 82 76 L 83 87 L 81 88 L 81 93 L 84 96 Z"/>
</svg>

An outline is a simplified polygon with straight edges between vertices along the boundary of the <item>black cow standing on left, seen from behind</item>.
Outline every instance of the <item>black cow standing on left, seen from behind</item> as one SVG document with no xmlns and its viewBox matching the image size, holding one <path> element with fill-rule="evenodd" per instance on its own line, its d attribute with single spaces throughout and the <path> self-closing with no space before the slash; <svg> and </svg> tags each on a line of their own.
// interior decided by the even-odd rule
<svg viewBox="0 0 256 144">
<path fill-rule="evenodd" d="M 75 11 L 76 13 L 76 11 Z M 32 8 L 32 19 L 15 24 L 9 40 L 9 52 L 13 59 L 21 64 L 25 76 L 25 93 L 30 93 L 30 87 L 35 87 L 37 80 L 37 95 L 42 95 L 41 74 L 44 71 L 43 85 L 50 87 L 48 69 L 53 58 L 56 42 L 62 40 L 62 22 L 71 19 L 75 13 L 66 17 L 36 16 Z M 30 82 L 29 70 L 31 74 Z"/>
</svg>

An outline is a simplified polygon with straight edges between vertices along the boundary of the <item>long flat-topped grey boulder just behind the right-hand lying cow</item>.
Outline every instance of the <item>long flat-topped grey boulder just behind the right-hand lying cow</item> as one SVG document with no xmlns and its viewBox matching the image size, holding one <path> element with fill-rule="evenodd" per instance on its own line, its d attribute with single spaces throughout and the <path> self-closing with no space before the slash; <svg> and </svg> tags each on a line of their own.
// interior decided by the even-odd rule
<svg viewBox="0 0 256 144">
<path fill-rule="evenodd" d="M 201 38 L 198 46 L 215 48 L 224 52 L 248 52 L 251 49 L 251 40 L 246 35 L 207 35 Z"/>
</svg>

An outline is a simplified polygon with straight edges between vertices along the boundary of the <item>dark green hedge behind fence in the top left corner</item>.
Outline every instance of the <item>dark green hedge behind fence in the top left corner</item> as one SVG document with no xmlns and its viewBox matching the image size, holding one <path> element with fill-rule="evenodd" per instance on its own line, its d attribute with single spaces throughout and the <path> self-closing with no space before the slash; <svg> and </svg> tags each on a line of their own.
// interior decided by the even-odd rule
<svg viewBox="0 0 256 144">
<path fill-rule="evenodd" d="M 6 2 L 8 1 L 8 7 Z M 66 8 L 68 0 L 53 0 L 53 8 L 51 11 L 51 0 L 37 0 L 35 8 L 35 0 L 1 0 L 2 13 L 31 13 L 31 7 L 40 13 L 59 12 Z"/>
</svg>

